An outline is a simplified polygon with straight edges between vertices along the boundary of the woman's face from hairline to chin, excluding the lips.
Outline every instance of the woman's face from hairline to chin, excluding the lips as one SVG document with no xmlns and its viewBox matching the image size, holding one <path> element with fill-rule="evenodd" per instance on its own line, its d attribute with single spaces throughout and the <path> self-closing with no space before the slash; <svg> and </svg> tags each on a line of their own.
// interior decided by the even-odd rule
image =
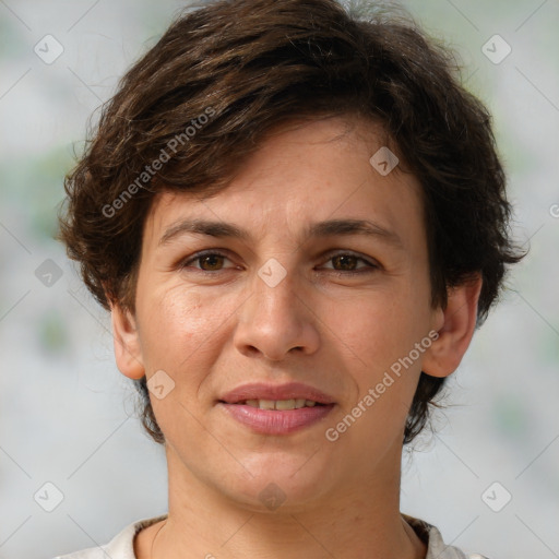
<svg viewBox="0 0 559 559">
<path fill-rule="evenodd" d="M 430 307 L 419 185 L 369 163 L 377 131 L 348 119 L 276 129 L 218 194 L 165 192 L 152 206 L 135 316 L 115 322 L 117 362 L 153 378 L 171 475 L 248 508 L 274 483 L 297 507 L 400 465 L 443 314 Z M 333 405 L 261 432 L 221 403 L 251 382 L 301 382 Z"/>
</svg>

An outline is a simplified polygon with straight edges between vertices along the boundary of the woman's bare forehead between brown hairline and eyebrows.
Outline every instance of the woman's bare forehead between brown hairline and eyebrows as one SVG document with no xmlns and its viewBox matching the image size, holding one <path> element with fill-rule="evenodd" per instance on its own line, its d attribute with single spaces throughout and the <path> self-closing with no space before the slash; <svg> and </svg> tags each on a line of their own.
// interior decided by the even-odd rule
<svg viewBox="0 0 559 559">
<path fill-rule="evenodd" d="M 380 126 L 357 118 L 292 121 L 273 129 L 221 192 L 203 199 L 163 191 L 152 204 L 144 240 L 159 243 L 186 218 L 235 221 L 254 236 L 299 236 L 311 222 L 350 216 L 423 236 L 420 186 L 399 166 L 382 175 L 370 163 L 385 150 Z M 382 152 L 381 152 L 382 153 Z M 404 231 L 402 231 L 404 233 Z M 403 235 L 406 237 L 406 235 Z M 405 240 L 405 239 L 404 239 Z"/>
</svg>

